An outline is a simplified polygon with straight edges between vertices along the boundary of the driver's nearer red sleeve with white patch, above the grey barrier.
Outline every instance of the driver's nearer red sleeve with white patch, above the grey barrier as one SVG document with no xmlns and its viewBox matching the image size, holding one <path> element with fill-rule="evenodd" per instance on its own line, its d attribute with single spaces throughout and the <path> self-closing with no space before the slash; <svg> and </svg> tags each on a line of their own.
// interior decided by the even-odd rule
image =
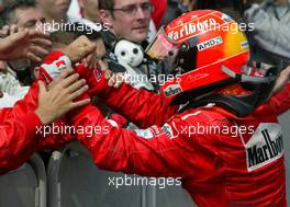
<svg viewBox="0 0 290 207">
<path fill-rule="evenodd" d="M 88 105 L 70 120 L 76 128 L 101 127 L 99 133 L 77 134 L 101 169 L 146 176 L 182 177 L 192 173 L 186 160 L 193 153 L 185 148 L 189 148 L 193 139 L 181 137 L 178 130 L 185 124 L 179 117 L 164 127 L 129 130 L 112 126 L 97 107 Z"/>
</svg>

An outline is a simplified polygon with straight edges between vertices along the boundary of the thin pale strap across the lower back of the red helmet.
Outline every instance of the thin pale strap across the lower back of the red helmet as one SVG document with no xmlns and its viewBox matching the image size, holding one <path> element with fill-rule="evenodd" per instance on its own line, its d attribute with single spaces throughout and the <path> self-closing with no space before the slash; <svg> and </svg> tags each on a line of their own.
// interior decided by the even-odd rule
<svg viewBox="0 0 290 207">
<path fill-rule="evenodd" d="M 238 82 L 267 83 L 270 81 L 275 81 L 277 78 L 276 76 L 254 77 L 254 76 L 247 76 L 247 74 L 239 74 L 225 66 L 222 66 L 222 71 L 226 73 L 228 77 L 236 79 Z"/>
</svg>

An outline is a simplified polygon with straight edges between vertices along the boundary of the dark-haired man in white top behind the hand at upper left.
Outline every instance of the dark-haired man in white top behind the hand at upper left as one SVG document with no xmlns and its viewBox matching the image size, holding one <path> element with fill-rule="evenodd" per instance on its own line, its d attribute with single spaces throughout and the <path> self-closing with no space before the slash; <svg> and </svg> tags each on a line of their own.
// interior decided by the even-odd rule
<svg viewBox="0 0 290 207">
<path fill-rule="evenodd" d="M 44 15 L 36 7 L 35 0 L 13 0 L 4 1 L 4 10 L 1 14 L 0 35 L 8 36 L 20 28 L 36 28 L 36 24 L 45 22 Z M 3 26 L 4 25 L 4 26 Z M 3 27 L 2 27 L 3 26 Z M 49 46 L 46 47 L 47 51 Z M 18 60 L 0 61 L 0 88 L 4 93 L 1 99 L 0 105 L 2 107 L 12 106 L 18 100 L 24 97 L 27 93 L 30 85 L 33 82 L 33 68 L 41 58 L 44 58 L 46 53 L 38 53 L 40 59 L 29 60 L 22 58 Z"/>
</svg>

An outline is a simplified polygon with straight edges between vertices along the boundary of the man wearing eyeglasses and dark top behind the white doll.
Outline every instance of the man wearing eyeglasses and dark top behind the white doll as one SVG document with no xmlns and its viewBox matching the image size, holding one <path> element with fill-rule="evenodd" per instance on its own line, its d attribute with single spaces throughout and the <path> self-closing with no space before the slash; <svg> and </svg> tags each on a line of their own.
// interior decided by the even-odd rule
<svg viewBox="0 0 290 207">
<path fill-rule="evenodd" d="M 110 28 L 109 32 L 101 32 L 107 49 L 107 60 L 109 60 L 109 65 L 113 65 L 110 68 L 115 72 L 132 71 L 120 66 L 114 48 L 120 39 L 142 45 L 143 48 L 147 46 L 146 38 L 149 33 L 153 4 L 148 0 L 99 0 L 99 9 L 102 23 Z M 157 67 L 156 62 L 145 55 L 141 65 L 132 67 L 132 69 L 136 71 L 137 76 L 148 78 L 144 89 L 158 91 L 158 81 L 150 77 L 164 73 L 164 67 Z"/>
</svg>

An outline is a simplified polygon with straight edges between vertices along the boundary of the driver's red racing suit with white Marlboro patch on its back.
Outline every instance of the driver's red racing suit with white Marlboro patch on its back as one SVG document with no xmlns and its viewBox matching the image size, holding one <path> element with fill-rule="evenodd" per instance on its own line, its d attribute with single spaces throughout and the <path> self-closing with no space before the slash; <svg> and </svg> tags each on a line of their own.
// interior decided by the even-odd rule
<svg viewBox="0 0 290 207">
<path fill-rule="evenodd" d="M 75 126 L 107 133 L 77 138 L 105 170 L 181 177 L 199 206 L 286 206 L 283 142 L 277 116 L 290 106 L 290 84 L 239 118 L 215 106 L 178 113 L 163 96 L 123 83 L 109 88 L 100 73 L 78 71 L 91 93 L 143 129 L 112 126 L 87 105 L 70 114 Z M 109 133 L 108 133 L 109 131 Z"/>
</svg>

